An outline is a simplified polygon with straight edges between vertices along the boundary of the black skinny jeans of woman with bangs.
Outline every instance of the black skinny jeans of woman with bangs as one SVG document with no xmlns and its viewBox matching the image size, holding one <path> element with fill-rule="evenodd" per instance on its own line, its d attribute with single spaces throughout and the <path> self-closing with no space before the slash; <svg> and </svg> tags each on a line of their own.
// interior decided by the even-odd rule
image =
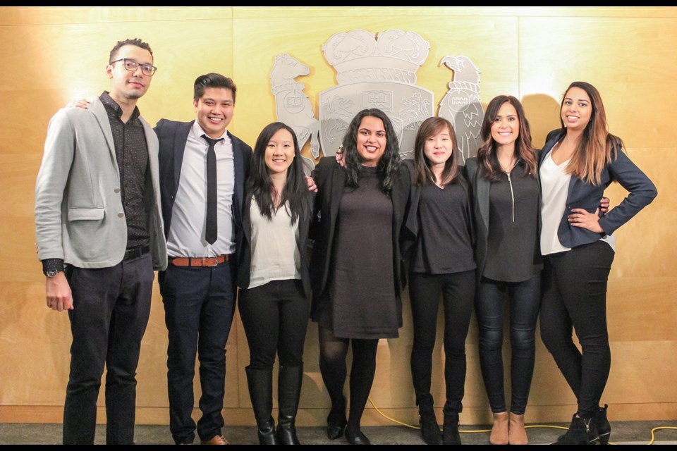
<svg viewBox="0 0 677 451">
<path fill-rule="evenodd" d="M 410 275 L 409 297 L 414 326 L 411 376 L 420 412 L 430 412 L 433 408 L 430 381 L 440 295 L 444 305 L 444 412 L 461 412 L 465 388 L 465 337 L 475 297 L 475 270 Z"/>
</svg>

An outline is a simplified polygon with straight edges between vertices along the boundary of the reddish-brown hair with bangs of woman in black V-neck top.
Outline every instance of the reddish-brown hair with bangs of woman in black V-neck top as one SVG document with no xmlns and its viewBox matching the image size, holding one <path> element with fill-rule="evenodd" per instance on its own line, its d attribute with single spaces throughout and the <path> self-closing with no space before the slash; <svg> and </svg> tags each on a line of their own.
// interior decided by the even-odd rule
<svg viewBox="0 0 677 451">
<path fill-rule="evenodd" d="M 452 183 L 456 180 L 458 174 L 458 147 L 456 144 L 456 132 L 453 131 L 453 126 L 445 118 L 439 116 L 432 116 L 427 118 L 421 124 L 416 133 L 416 140 L 414 144 L 414 162 L 416 168 L 416 185 L 428 185 L 429 183 L 437 183 L 434 173 L 430 170 L 430 161 L 425 156 L 425 142 L 426 140 L 438 133 L 442 132 L 444 128 L 449 130 L 449 137 L 451 138 L 451 156 L 444 162 L 444 171 L 442 171 L 441 180 L 442 185 Z"/>
</svg>

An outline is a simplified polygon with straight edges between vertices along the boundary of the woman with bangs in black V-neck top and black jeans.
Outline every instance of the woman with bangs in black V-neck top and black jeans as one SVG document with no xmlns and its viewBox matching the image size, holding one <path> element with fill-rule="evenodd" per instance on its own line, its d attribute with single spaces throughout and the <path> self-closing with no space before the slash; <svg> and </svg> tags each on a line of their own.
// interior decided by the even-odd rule
<svg viewBox="0 0 677 451">
<path fill-rule="evenodd" d="M 427 118 L 416 135 L 407 230 L 409 296 L 414 326 L 411 376 L 421 433 L 429 445 L 461 445 L 458 413 L 463 409 L 465 336 L 475 296 L 472 212 L 468 183 L 458 166 L 456 135 L 444 118 Z M 430 394 L 432 351 L 440 295 L 444 304 L 444 435 Z"/>
</svg>

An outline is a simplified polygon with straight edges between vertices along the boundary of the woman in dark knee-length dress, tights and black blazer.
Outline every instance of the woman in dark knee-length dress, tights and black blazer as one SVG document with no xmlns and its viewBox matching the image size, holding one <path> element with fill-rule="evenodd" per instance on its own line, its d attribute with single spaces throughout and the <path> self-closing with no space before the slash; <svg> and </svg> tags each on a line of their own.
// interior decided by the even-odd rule
<svg viewBox="0 0 677 451">
<path fill-rule="evenodd" d="M 319 326 L 320 371 L 331 398 L 327 436 L 344 433 L 352 444 L 369 444 L 360 431 L 379 338 L 396 338 L 402 326 L 400 229 L 409 197 L 409 173 L 399 157 L 388 116 L 362 110 L 343 138 L 341 167 L 324 158 L 313 171 L 315 198 L 311 237 L 312 319 Z M 348 347 L 350 416 L 346 420 Z"/>
</svg>

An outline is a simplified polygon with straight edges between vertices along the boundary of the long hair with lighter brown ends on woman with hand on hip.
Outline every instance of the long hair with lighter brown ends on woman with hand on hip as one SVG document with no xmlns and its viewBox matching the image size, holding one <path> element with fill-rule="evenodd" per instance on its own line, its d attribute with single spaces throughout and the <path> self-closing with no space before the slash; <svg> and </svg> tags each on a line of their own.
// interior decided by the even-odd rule
<svg viewBox="0 0 677 451">
<path fill-rule="evenodd" d="M 597 88 L 587 82 L 573 82 L 566 88 L 562 96 L 562 103 L 559 105 L 559 121 L 562 124 L 562 131 L 566 132 L 566 127 L 562 120 L 562 107 L 564 106 L 566 93 L 572 87 L 583 89 L 587 93 L 587 97 L 590 97 L 592 115 L 590 116 L 590 122 L 587 123 L 585 130 L 583 130 L 580 146 L 575 154 L 571 156 L 571 161 L 569 161 L 566 169 L 568 173 L 575 175 L 586 183 L 590 183 L 590 185 L 599 185 L 604 165 L 609 163 L 611 159 L 616 159 L 616 152 L 623 149 L 623 140 L 609 133 L 602 96 L 599 95 Z"/>
</svg>

